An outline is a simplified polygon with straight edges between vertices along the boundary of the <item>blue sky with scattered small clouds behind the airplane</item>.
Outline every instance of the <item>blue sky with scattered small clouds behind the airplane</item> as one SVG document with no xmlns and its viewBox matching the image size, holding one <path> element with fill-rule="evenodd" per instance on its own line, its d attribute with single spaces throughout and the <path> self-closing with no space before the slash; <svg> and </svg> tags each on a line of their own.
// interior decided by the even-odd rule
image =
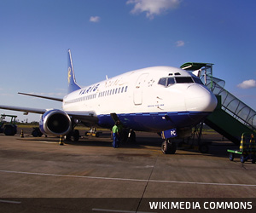
<svg viewBox="0 0 256 213">
<path fill-rule="evenodd" d="M 61 108 L 17 92 L 66 95 L 71 49 L 80 85 L 147 66 L 209 62 L 225 89 L 256 110 L 255 8 L 253 0 L 2 0 L 0 104 Z"/>
</svg>

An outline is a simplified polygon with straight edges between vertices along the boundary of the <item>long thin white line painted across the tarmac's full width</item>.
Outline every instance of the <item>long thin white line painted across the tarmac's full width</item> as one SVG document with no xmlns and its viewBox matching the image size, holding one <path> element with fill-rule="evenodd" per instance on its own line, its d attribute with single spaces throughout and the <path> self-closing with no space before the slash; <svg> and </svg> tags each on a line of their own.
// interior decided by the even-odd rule
<svg viewBox="0 0 256 213">
<path fill-rule="evenodd" d="M 21 175 L 32 175 L 32 176 L 58 176 L 58 177 L 72 177 L 72 178 L 85 178 L 85 179 L 100 179 L 100 180 L 109 180 L 109 181 L 143 181 L 143 182 L 159 182 L 159 183 L 230 186 L 230 187 L 232 187 L 232 186 L 233 187 L 256 187 L 256 184 L 245 184 L 245 183 L 237 184 L 237 183 L 218 183 L 218 182 L 160 181 L 160 180 L 132 179 L 132 178 L 119 178 L 119 177 L 101 177 L 101 176 L 70 176 L 70 175 L 58 175 L 58 174 L 26 172 L 26 171 L 12 171 L 12 170 L 0 170 L 0 172 L 21 174 Z"/>
</svg>

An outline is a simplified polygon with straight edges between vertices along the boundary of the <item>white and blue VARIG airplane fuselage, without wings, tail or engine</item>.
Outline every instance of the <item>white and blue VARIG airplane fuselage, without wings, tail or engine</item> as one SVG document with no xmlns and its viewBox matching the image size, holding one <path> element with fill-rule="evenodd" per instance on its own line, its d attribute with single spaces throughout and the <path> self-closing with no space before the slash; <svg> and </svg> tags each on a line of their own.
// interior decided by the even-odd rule
<svg viewBox="0 0 256 213">
<path fill-rule="evenodd" d="M 198 124 L 216 107 L 214 95 L 190 72 L 154 66 L 125 72 L 73 91 L 64 111 L 90 111 L 99 126 L 111 128 L 115 113 L 132 130 L 154 131 Z"/>
</svg>

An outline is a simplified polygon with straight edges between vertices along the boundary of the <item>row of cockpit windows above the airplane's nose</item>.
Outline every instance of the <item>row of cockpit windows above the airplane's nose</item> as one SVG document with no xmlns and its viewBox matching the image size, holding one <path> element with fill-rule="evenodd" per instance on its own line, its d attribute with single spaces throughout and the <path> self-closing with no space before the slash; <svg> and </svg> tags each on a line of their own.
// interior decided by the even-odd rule
<svg viewBox="0 0 256 213">
<path fill-rule="evenodd" d="M 165 87 L 170 87 L 174 83 L 199 83 L 203 84 L 200 80 L 200 78 L 196 77 L 166 77 L 166 78 L 160 78 L 158 84 L 163 85 Z"/>
</svg>

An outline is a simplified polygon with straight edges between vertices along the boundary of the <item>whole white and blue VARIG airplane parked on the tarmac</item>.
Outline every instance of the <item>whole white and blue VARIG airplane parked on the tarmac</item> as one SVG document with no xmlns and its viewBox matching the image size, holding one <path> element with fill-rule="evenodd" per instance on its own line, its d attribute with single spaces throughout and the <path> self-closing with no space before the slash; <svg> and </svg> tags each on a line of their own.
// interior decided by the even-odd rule
<svg viewBox="0 0 256 213">
<path fill-rule="evenodd" d="M 129 130 L 162 133 L 166 141 L 163 153 L 175 153 L 173 137 L 191 134 L 217 106 L 217 99 L 193 73 L 172 66 L 154 66 L 125 72 L 113 78 L 81 88 L 76 83 L 71 51 L 68 49 L 68 91 L 62 110 L 2 106 L 2 109 L 42 114 L 40 130 L 49 135 L 79 138 L 74 126 L 97 125 L 112 128 L 119 120 Z M 30 95 L 20 93 L 22 95 Z M 189 130 L 189 131 L 188 131 Z"/>
</svg>

